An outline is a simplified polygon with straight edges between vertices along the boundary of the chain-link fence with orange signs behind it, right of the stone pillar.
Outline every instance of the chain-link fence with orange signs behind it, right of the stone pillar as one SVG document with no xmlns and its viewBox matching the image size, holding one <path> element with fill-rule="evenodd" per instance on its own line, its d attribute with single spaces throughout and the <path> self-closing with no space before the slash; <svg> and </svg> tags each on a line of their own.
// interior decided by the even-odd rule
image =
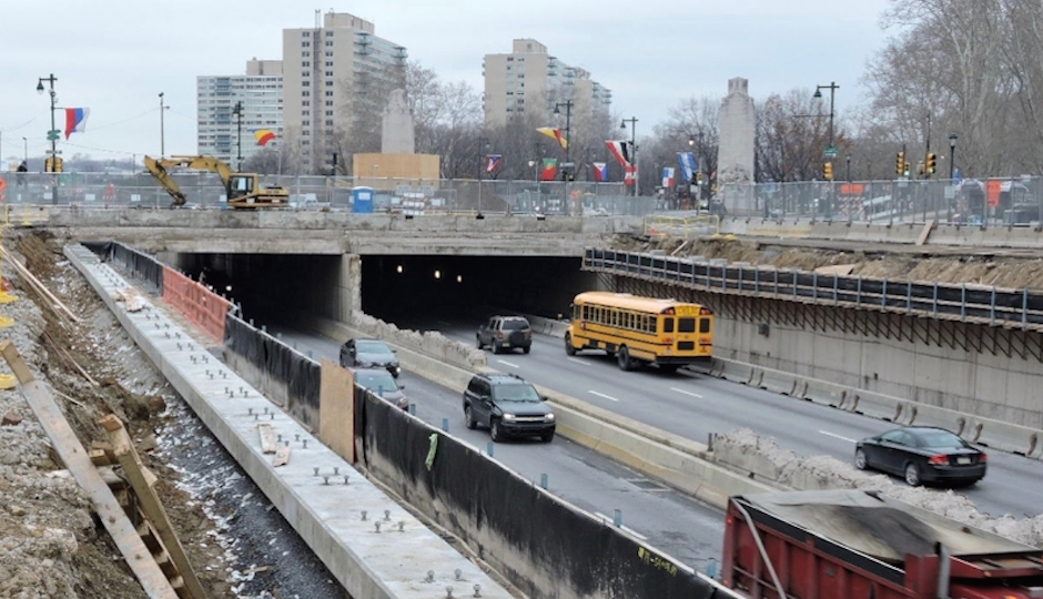
<svg viewBox="0 0 1043 599">
<path fill-rule="evenodd" d="M 799 181 L 723 185 L 721 215 L 862 223 L 1033 225 L 1043 216 L 1043 179 Z"/>
</svg>

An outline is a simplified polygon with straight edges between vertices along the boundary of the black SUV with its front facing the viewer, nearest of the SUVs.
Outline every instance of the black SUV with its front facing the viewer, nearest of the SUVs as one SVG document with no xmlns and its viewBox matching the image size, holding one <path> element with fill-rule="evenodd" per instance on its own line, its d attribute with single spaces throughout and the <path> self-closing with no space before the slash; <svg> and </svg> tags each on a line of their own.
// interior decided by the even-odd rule
<svg viewBox="0 0 1043 599">
<path fill-rule="evenodd" d="M 508 436 L 554 439 L 555 416 L 547 398 L 517 375 L 475 375 L 464 392 L 467 428 L 489 427 L 494 441 Z"/>
</svg>

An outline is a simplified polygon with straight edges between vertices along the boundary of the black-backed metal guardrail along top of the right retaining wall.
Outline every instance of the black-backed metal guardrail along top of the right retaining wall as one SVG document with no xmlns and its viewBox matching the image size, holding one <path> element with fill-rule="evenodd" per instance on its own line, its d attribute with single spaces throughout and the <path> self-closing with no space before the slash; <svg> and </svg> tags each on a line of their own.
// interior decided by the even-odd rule
<svg viewBox="0 0 1043 599">
<path fill-rule="evenodd" d="M 1043 295 L 1029 288 L 841 276 L 614 250 L 587 250 L 583 268 L 679 283 L 711 293 L 1043 331 Z"/>
</svg>

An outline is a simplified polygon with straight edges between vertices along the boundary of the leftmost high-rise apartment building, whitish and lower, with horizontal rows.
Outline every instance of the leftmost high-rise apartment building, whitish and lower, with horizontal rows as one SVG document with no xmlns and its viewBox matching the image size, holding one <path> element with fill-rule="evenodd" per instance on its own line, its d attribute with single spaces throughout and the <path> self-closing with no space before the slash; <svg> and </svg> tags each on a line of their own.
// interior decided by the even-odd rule
<svg viewBox="0 0 1043 599">
<path fill-rule="evenodd" d="M 198 152 L 215 156 L 233 169 L 262 150 L 254 131 L 267 129 L 277 148 L 283 136 L 283 63 L 246 62 L 246 74 L 196 78 Z"/>
</svg>

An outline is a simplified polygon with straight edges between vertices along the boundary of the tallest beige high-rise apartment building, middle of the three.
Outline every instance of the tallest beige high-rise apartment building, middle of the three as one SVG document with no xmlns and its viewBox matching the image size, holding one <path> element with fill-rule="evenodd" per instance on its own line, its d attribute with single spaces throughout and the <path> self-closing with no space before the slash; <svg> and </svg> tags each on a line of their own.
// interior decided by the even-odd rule
<svg viewBox="0 0 1043 599">
<path fill-rule="evenodd" d="M 303 170 L 328 172 L 337 138 L 377 118 L 402 87 L 408 54 L 347 13 L 316 12 L 315 27 L 283 30 L 283 126 Z M 379 123 L 376 123 L 377 131 Z M 350 156 L 338 156 L 351 164 Z"/>
</svg>

